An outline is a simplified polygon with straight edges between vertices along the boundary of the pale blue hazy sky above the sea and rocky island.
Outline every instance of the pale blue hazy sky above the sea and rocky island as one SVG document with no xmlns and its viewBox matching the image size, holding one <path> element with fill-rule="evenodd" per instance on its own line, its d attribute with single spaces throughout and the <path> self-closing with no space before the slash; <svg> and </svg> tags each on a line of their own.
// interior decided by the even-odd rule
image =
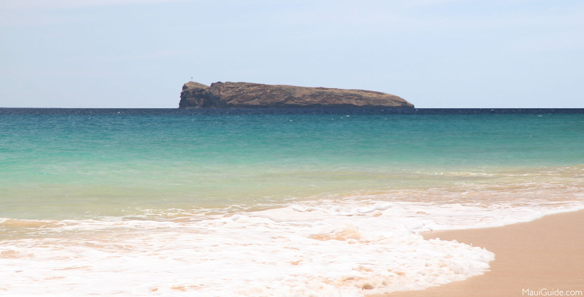
<svg viewBox="0 0 584 297">
<path fill-rule="evenodd" d="M 1 0 L 0 107 L 175 108 L 183 83 L 584 107 L 584 1 Z"/>
</svg>

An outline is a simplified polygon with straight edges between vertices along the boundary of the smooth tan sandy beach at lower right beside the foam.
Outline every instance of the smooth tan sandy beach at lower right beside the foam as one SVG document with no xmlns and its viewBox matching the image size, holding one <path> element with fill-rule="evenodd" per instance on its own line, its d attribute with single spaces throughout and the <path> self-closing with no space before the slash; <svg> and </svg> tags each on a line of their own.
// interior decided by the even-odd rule
<svg viewBox="0 0 584 297">
<path fill-rule="evenodd" d="M 582 296 L 584 291 L 584 210 L 498 228 L 423 236 L 485 247 L 495 253 L 491 271 L 465 281 L 383 296 L 558 296 L 559 291 L 566 295 L 572 290 Z"/>
</svg>

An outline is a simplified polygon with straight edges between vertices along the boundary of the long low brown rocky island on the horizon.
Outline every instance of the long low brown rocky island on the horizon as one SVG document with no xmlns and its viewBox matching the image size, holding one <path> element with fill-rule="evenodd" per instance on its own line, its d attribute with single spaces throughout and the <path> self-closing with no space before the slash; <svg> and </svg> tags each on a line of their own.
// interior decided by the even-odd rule
<svg viewBox="0 0 584 297">
<path fill-rule="evenodd" d="M 318 107 L 318 108 L 413 108 L 413 104 L 387 93 L 367 90 L 307 88 L 249 82 L 215 82 L 210 86 L 187 82 L 180 93 L 179 108 Z"/>
</svg>

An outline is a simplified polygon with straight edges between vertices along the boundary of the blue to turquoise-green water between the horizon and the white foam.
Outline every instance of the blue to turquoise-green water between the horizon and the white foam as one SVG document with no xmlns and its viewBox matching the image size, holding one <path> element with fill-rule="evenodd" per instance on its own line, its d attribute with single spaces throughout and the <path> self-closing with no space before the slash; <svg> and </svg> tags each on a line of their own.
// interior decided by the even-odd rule
<svg viewBox="0 0 584 297">
<path fill-rule="evenodd" d="M 584 163 L 583 113 L 37 111 L 0 116 L 0 216 L 279 204 Z"/>
</svg>

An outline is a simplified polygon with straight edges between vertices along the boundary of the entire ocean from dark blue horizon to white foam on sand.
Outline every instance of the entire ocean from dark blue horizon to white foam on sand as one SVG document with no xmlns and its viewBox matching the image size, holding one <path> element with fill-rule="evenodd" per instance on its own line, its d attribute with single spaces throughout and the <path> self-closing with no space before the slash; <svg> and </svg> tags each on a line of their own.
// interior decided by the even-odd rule
<svg viewBox="0 0 584 297">
<path fill-rule="evenodd" d="M 584 208 L 584 109 L 0 109 L 0 294 L 363 296 Z"/>
</svg>

